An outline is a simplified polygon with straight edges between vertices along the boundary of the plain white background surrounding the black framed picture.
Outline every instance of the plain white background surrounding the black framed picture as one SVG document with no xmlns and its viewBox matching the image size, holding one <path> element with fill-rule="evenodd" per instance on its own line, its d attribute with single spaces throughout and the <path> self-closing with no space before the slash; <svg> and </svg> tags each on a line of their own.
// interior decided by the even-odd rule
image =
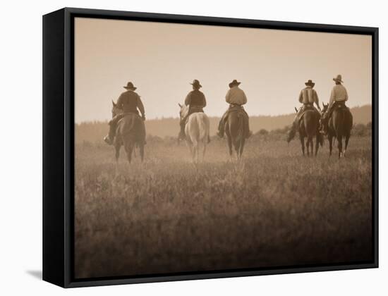
<svg viewBox="0 0 388 296">
<path fill-rule="evenodd" d="M 63 290 L 42 271 L 42 15 L 64 6 L 380 27 L 380 269 Z M 387 295 L 385 1 L 3 1 L 0 17 L 1 295 Z M 335 44 L 333 44 L 335 46 Z M 17 119 L 16 119 L 17 118 Z"/>
</svg>

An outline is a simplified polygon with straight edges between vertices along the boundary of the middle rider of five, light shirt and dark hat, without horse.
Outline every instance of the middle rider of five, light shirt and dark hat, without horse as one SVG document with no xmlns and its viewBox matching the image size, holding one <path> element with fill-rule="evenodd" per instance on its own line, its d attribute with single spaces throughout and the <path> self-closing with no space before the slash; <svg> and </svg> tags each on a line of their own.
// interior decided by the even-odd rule
<svg viewBox="0 0 388 296">
<path fill-rule="evenodd" d="M 245 127 L 246 127 L 246 130 L 248 130 L 245 137 L 248 138 L 250 137 L 250 135 L 252 135 L 252 132 L 250 132 L 250 129 L 249 129 L 248 113 L 246 113 L 246 111 L 243 109 L 243 105 L 246 104 L 247 99 L 245 96 L 245 92 L 241 90 L 240 87 L 238 87 L 238 85 L 240 84 L 241 82 L 238 82 L 236 79 L 229 83 L 229 90 L 228 92 L 226 92 L 226 96 L 225 96 L 226 103 L 229 103 L 229 109 L 226 110 L 221 120 L 219 121 L 218 132 L 217 132 L 217 135 L 219 137 L 224 137 L 224 125 L 226 123 L 226 119 L 228 118 L 229 113 L 232 110 L 236 110 L 236 108 L 243 111 L 245 115 L 245 125 L 246 125 Z"/>
</svg>

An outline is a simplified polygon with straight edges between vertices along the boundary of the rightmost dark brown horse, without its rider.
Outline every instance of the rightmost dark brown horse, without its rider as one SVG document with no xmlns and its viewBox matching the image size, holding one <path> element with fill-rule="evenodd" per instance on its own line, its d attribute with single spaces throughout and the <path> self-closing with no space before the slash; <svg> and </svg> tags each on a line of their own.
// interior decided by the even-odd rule
<svg viewBox="0 0 388 296">
<path fill-rule="evenodd" d="M 329 104 L 323 104 L 323 111 L 327 111 Z M 329 140 L 329 153 L 332 155 L 333 140 L 337 138 L 338 158 L 345 156 L 348 142 L 351 137 L 351 129 L 353 128 L 353 115 L 344 104 L 334 106 L 332 116 L 327 123 L 327 139 Z M 342 151 L 342 141 L 345 140 L 345 149 Z"/>
</svg>

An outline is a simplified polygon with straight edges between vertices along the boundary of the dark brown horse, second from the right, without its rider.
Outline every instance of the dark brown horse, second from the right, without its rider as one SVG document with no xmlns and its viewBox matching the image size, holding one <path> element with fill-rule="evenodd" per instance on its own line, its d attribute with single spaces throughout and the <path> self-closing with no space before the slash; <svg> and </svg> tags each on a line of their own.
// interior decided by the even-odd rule
<svg viewBox="0 0 388 296">
<path fill-rule="evenodd" d="M 298 113 L 298 109 L 295 109 Z M 314 137 L 315 137 L 315 156 L 317 156 L 318 149 L 323 146 L 323 137 L 320 134 L 320 113 L 314 109 L 304 111 L 301 120 L 298 123 L 299 139 L 301 140 L 302 153 L 305 155 L 305 137 L 307 137 L 306 147 L 307 155 L 313 155 Z"/>
</svg>

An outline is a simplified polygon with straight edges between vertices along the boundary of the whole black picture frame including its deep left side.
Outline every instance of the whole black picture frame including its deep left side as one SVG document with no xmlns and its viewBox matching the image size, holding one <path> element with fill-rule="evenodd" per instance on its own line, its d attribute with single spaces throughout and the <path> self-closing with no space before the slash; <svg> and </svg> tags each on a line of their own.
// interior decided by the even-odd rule
<svg viewBox="0 0 388 296">
<path fill-rule="evenodd" d="M 74 259 L 74 18 L 141 20 L 231 27 L 333 32 L 372 37 L 372 261 L 352 264 L 238 269 L 75 280 Z M 43 280 L 63 288 L 378 267 L 378 28 L 158 13 L 62 8 L 43 16 Z"/>
</svg>

